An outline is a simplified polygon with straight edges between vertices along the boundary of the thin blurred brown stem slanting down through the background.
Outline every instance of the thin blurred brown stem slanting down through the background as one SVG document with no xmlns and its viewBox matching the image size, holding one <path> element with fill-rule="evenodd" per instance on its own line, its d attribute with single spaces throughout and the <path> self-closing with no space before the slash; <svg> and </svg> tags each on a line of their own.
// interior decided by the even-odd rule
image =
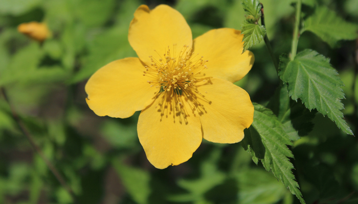
<svg viewBox="0 0 358 204">
<path fill-rule="evenodd" d="M 12 118 L 16 121 L 17 125 L 19 126 L 21 132 L 26 136 L 26 138 L 29 140 L 31 146 L 33 147 L 33 149 L 37 152 L 37 154 L 41 157 L 41 159 L 44 161 L 44 163 L 46 163 L 46 165 L 48 166 L 48 168 L 51 170 L 51 172 L 54 174 L 54 176 L 56 177 L 57 181 L 61 184 L 61 186 L 71 195 L 73 201 L 75 201 L 75 194 L 73 193 L 73 191 L 71 190 L 71 188 L 66 184 L 65 180 L 63 179 L 63 177 L 61 176 L 61 174 L 58 172 L 58 170 L 56 169 L 56 167 L 50 162 L 50 160 L 48 160 L 46 158 L 46 156 L 44 156 L 42 150 L 40 149 L 39 146 L 37 146 L 37 144 L 35 143 L 35 140 L 33 139 L 33 137 L 31 136 L 30 132 L 27 130 L 25 124 L 23 123 L 23 121 L 21 121 L 20 117 L 18 116 L 18 114 L 16 113 L 15 109 L 11 106 L 10 100 L 6 94 L 5 88 L 1 87 L 1 92 L 6 100 L 6 102 L 9 104 L 10 110 L 11 110 L 11 115 Z"/>
</svg>

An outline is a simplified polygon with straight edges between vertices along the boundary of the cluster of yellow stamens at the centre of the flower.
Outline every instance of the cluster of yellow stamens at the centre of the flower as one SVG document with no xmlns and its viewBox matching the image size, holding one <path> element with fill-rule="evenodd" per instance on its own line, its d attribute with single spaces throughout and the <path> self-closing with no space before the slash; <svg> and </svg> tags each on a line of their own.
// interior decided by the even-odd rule
<svg viewBox="0 0 358 204">
<path fill-rule="evenodd" d="M 203 56 L 192 52 L 192 48 L 187 45 L 184 45 L 179 53 L 175 53 L 175 46 L 176 44 L 173 44 L 173 51 L 168 46 L 162 55 L 154 50 L 158 58 L 149 56 L 151 64 L 144 67 L 143 75 L 151 78 L 147 81 L 150 87 L 158 89 L 156 96 L 163 95 L 156 107 L 165 104 L 164 109 L 183 113 L 184 97 L 194 111 L 195 107 L 203 107 L 197 101 L 197 95 L 203 95 L 198 91 L 196 83 L 206 82 L 204 74 L 200 72 L 208 68 L 205 65 L 208 60 L 203 60 Z M 168 104 L 171 106 L 168 107 Z M 161 109 L 162 113 L 164 109 Z"/>
</svg>

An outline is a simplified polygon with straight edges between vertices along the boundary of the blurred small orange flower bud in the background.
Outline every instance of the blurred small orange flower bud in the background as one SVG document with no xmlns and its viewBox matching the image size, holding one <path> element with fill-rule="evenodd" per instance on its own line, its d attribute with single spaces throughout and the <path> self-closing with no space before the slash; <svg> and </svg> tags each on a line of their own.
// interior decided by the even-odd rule
<svg viewBox="0 0 358 204">
<path fill-rule="evenodd" d="M 50 31 L 46 23 L 35 21 L 19 24 L 17 31 L 39 42 L 42 42 L 50 36 Z"/>
</svg>

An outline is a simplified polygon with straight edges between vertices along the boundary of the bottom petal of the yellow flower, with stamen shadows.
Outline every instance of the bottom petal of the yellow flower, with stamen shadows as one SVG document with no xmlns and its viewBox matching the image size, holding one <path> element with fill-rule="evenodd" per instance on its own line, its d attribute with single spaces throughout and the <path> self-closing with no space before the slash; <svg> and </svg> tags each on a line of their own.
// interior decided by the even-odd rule
<svg viewBox="0 0 358 204">
<path fill-rule="evenodd" d="M 138 120 L 139 141 L 149 162 L 159 169 L 188 161 L 203 138 L 200 119 L 192 114 L 184 97 L 181 97 L 183 106 L 179 108 L 173 101 L 175 97 L 161 97 L 164 93 L 142 111 Z M 158 101 L 163 105 L 155 108 Z"/>
</svg>

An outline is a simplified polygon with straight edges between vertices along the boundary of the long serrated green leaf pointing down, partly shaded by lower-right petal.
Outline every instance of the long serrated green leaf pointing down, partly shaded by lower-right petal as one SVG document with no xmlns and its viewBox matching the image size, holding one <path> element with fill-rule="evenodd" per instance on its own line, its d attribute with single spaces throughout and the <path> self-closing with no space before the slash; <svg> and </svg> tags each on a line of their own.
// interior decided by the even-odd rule
<svg viewBox="0 0 358 204">
<path fill-rule="evenodd" d="M 270 109 L 254 104 L 254 122 L 245 131 L 241 145 L 252 154 L 257 163 L 260 159 L 267 171 L 272 171 L 292 194 L 304 203 L 299 185 L 291 169 L 294 168 L 287 157 L 293 158 L 287 145 L 292 145 L 289 136 L 282 129 L 281 122 Z"/>
</svg>

